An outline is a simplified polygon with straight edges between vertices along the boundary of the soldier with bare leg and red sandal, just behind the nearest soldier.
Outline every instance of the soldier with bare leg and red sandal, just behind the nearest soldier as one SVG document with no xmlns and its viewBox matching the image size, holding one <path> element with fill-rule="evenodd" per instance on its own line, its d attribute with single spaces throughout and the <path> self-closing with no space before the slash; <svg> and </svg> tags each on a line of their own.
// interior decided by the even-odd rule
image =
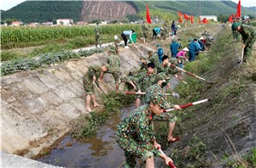
<svg viewBox="0 0 256 168">
<path fill-rule="evenodd" d="M 168 78 L 165 73 L 160 73 L 157 75 L 156 80 L 157 83 L 154 84 L 153 86 L 149 87 L 146 94 L 145 94 L 145 104 L 149 103 L 151 94 L 153 94 L 154 92 L 162 92 L 164 94 L 164 90 L 162 89 L 163 87 L 166 86 L 167 84 L 167 80 L 170 79 Z M 178 105 L 173 105 L 170 103 L 166 102 L 166 109 L 181 109 Z M 172 132 L 174 130 L 175 127 L 175 122 L 177 120 L 177 117 L 175 115 L 172 115 L 171 113 L 163 113 L 161 115 L 158 115 L 155 117 L 155 120 L 160 120 L 160 121 L 168 121 L 168 133 L 167 133 L 167 141 L 169 143 L 174 143 L 177 140 L 179 140 L 179 137 L 173 137 L 172 136 Z"/>
</svg>

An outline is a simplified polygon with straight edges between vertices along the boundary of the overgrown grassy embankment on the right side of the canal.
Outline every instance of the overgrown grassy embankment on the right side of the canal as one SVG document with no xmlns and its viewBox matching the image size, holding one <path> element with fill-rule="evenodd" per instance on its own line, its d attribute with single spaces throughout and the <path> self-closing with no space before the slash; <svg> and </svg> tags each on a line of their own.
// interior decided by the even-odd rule
<svg viewBox="0 0 256 168">
<path fill-rule="evenodd" d="M 193 34 L 192 31 L 190 33 Z M 239 115 L 242 108 L 248 104 L 255 104 L 253 100 L 248 99 L 248 94 L 252 92 L 249 89 L 253 88 L 253 83 L 256 81 L 255 49 L 252 58 L 242 64 L 241 69 L 235 69 L 232 64 L 231 66 L 229 64 L 232 61 L 236 64 L 234 57 L 241 57 L 241 52 L 239 52 L 241 42 L 232 44 L 233 39 L 229 35 L 230 27 L 225 27 L 220 32 L 217 42 L 212 46 L 211 52 L 201 54 L 196 61 L 185 66 L 185 70 L 198 76 L 207 79 L 214 76 L 215 83 L 209 84 L 195 77 L 186 76 L 185 81 L 188 85 L 181 83 L 175 89 L 175 92 L 180 93 L 181 98 L 169 99 L 173 104 L 188 104 L 211 98 L 208 105 L 199 104 L 174 112 L 178 117 L 174 133 L 183 135 L 181 143 L 172 144 L 169 148 L 170 145 L 166 143 L 166 124 L 158 123 L 156 126 L 158 141 L 162 148 L 172 150 L 170 156 L 177 167 L 211 167 L 219 162 L 224 162 L 224 167 L 256 166 L 256 148 L 242 154 L 236 151 L 234 145 L 235 141 L 248 136 L 248 124 L 244 121 L 234 121 L 231 126 L 227 124 L 231 120 L 238 120 L 235 112 Z M 225 70 L 227 66 L 231 69 Z M 247 109 L 246 114 L 252 113 L 251 110 Z M 245 116 L 241 115 L 241 117 Z M 214 136 L 219 137 L 215 139 Z M 228 148 L 228 150 L 222 151 L 220 147 Z"/>
</svg>

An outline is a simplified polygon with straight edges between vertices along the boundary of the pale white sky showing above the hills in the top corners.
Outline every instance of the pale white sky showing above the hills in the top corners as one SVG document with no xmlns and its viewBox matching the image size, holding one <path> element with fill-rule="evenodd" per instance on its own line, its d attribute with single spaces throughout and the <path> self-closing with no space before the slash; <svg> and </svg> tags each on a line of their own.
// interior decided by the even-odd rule
<svg viewBox="0 0 256 168">
<path fill-rule="evenodd" d="M 9 10 L 15 7 L 17 4 L 24 2 L 25 0 L 1 0 L 0 9 Z M 164 1 L 164 0 L 163 0 Z M 238 3 L 239 0 L 232 0 L 234 3 Z M 255 7 L 255 0 L 241 0 L 241 6 L 243 7 Z"/>
</svg>

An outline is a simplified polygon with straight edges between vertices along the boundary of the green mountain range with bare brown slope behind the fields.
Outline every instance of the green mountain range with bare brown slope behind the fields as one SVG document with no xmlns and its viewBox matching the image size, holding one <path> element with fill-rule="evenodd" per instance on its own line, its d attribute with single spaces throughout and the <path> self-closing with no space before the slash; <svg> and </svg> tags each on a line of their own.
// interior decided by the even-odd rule
<svg viewBox="0 0 256 168">
<path fill-rule="evenodd" d="M 236 14 L 236 3 L 231 1 L 26 1 L 7 11 L 1 11 L 2 20 L 15 19 L 25 23 L 46 22 L 57 19 L 124 20 L 149 10 L 177 14 L 177 10 L 193 15 Z M 255 8 L 254 8 L 255 9 Z M 255 15 L 253 8 L 241 8 L 241 14 Z"/>
</svg>

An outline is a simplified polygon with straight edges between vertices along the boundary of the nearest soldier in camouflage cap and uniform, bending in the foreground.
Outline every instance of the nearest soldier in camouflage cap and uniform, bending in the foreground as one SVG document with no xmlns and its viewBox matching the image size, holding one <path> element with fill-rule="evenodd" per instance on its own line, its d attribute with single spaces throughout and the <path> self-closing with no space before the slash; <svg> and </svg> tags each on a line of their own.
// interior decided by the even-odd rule
<svg viewBox="0 0 256 168">
<path fill-rule="evenodd" d="M 168 165 L 171 158 L 161 154 L 157 148 L 154 133 L 154 118 L 161 115 L 165 109 L 164 95 L 154 92 L 151 95 L 149 104 L 145 104 L 125 117 L 118 125 L 117 143 L 125 151 L 125 167 L 135 167 L 137 158 L 141 158 L 145 167 L 154 167 L 154 157 L 160 156 Z"/>
</svg>

